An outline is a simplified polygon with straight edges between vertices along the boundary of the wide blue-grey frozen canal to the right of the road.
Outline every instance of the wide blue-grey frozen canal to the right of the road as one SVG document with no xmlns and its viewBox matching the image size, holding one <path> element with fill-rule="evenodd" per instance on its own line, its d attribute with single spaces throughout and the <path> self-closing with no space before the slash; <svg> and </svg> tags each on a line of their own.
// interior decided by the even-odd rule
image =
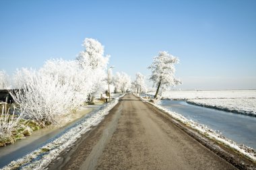
<svg viewBox="0 0 256 170">
<path fill-rule="evenodd" d="M 189 120 L 205 124 L 213 130 L 219 130 L 238 144 L 256 149 L 256 117 L 203 108 L 179 100 L 162 100 L 158 104 Z"/>
</svg>

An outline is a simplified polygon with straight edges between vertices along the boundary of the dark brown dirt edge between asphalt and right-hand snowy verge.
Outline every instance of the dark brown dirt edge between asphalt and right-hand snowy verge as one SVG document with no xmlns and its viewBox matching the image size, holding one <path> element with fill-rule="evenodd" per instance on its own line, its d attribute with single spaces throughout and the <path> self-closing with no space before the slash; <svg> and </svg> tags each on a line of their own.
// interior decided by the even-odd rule
<svg viewBox="0 0 256 170">
<path fill-rule="evenodd" d="M 238 169 L 256 169 L 256 163 L 253 163 L 253 161 L 249 160 L 244 155 L 236 153 L 231 148 L 228 148 L 228 146 L 224 146 L 224 144 L 218 143 L 210 138 L 207 138 L 206 136 L 203 136 L 203 134 L 200 134 L 189 126 L 186 126 L 182 122 L 179 122 L 178 120 L 172 118 L 172 116 L 170 116 L 166 112 L 163 112 L 162 110 L 159 110 L 154 105 L 147 102 L 145 103 L 154 112 L 156 112 L 156 114 L 162 115 L 164 118 L 172 122 L 175 126 L 186 132 L 189 136 L 203 144 L 203 146 L 210 149 L 210 151 L 216 153 L 216 155 L 226 160 L 228 163 L 234 165 L 234 167 L 237 167 Z"/>
</svg>

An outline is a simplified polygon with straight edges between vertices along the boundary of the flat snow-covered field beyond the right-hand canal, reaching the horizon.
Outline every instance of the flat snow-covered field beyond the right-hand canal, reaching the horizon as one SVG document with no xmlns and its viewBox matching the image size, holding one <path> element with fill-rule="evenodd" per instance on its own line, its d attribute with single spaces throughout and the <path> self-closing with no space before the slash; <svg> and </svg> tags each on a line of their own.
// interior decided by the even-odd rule
<svg viewBox="0 0 256 170">
<path fill-rule="evenodd" d="M 148 93 L 154 95 L 154 92 Z M 256 116 L 256 90 L 166 91 L 162 99 L 185 99 L 188 103 L 237 114 Z"/>
</svg>

